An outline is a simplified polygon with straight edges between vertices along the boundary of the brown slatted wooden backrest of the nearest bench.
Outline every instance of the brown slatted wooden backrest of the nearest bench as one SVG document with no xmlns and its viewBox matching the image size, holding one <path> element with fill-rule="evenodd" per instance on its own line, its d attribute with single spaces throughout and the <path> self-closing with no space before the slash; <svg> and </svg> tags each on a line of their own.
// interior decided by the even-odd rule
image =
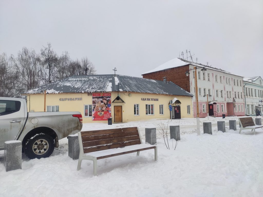
<svg viewBox="0 0 263 197">
<path fill-rule="evenodd" d="M 142 143 L 138 127 L 82 131 L 79 132 L 79 142 L 82 143 L 83 153 Z M 81 146 L 80 149 L 82 149 Z"/>
</svg>

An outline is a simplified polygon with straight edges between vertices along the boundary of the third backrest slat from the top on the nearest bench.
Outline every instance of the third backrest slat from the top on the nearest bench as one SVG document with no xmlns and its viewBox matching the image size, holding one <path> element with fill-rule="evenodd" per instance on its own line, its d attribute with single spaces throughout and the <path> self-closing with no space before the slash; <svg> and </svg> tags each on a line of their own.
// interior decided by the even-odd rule
<svg viewBox="0 0 263 197">
<path fill-rule="evenodd" d="M 119 137 L 119 138 L 111 138 L 111 139 L 102 139 L 97 141 L 90 141 L 90 142 L 82 142 L 83 148 L 90 147 L 90 146 L 100 146 L 118 142 L 127 142 L 133 140 L 140 140 L 139 136 L 128 136 L 128 137 Z"/>
</svg>

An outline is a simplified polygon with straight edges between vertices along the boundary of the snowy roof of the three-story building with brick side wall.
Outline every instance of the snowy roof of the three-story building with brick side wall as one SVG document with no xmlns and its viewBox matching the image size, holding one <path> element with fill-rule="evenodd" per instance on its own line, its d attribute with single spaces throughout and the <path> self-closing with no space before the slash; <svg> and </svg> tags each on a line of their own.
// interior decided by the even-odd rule
<svg viewBox="0 0 263 197">
<path fill-rule="evenodd" d="M 222 69 L 214 68 L 214 67 L 211 67 L 211 66 L 206 66 L 206 65 L 203 65 L 203 64 L 194 63 L 192 61 L 188 61 L 188 60 L 181 59 L 181 58 L 174 58 L 174 59 L 172 59 L 172 60 L 170 60 L 170 61 L 168 61 L 168 62 L 166 62 L 166 63 L 164 63 L 164 64 L 162 64 L 162 65 L 160 65 L 158 67 L 156 67 L 153 70 L 144 72 L 142 75 L 148 74 L 148 73 L 151 73 L 151 72 L 157 72 L 157 71 L 161 71 L 161 70 L 176 68 L 176 67 L 179 67 L 179 66 L 185 66 L 185 65 L 188 65 L 188 64 L 191 64 L 191 65 L 194 65 L 194 66 L 199 66 L 199 67 L 206 67 L 207 69 L 216 70 L 216 71 L 224 72 L 224 73 L 227 73 L 227 74 L 236 75 L 236 74 L 227 72 L 227 71 L 222 70 Z M 240 76 L 240 75 L 236 75 L 236 76 Z M 240 77 L 242 77 L 242 76 L 240 76 Z"/>
</svg>

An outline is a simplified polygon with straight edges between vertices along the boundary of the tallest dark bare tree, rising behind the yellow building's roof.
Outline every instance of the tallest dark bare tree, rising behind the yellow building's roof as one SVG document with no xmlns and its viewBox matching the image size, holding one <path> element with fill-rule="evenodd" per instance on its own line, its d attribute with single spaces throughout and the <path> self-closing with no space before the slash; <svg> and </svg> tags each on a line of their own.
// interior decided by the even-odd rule
<svg viewBox="0 0 263 197">
<path fill-rule="evenodd" d="M 51 48 L 51 44 L 48 43 L 48 46 L 40 50 L 41 64 L 44 70 L 41 70 L 41 76 L 44 84 L 49 84 L 54 81 L 56 78 L 56 68 L 58 64 L 58 55 Z"/>
</svg>

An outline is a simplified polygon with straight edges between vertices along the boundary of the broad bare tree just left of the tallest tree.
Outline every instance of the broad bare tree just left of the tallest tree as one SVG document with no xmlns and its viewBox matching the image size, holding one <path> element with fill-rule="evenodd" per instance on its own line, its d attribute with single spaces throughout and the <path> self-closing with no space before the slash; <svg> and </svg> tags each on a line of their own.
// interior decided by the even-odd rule
<svg viewBox="0 0 263 197">
<path fill-rule="evenodd" d="M 22 48 L 17 58 L 11 55 L 14 66 L 19 73 L 19 81 L 24 90 L 31 90 L 39 86 L 40 58 L 34 49 Z"/>
</svg>

